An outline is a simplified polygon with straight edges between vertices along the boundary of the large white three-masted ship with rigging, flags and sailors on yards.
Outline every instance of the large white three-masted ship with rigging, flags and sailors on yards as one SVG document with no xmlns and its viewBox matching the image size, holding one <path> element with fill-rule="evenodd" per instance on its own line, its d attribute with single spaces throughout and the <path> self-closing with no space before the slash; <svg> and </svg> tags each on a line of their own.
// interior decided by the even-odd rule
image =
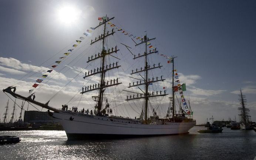
<svg viewBox="0 0 256 160">
<path fill-rule="evenodd" d="M 93 55 L 90 55 L 87 63 L 90 64 L 94 62 L 94 64 L 98 64 L 98 66 L 96 66 L 97 68 L 90 68 L 90 65 L 87 65 L 89 67 L 86 68 L 87 71 L 84 73 L 83 78 L 90 79 L 92 76 L 98 75 L 98 82 L 82 86 L 80 93 L 83 95 L 94 94 L 92 96 L 92 101 L 94 101 L 93 109 L 77 110 L 77 108 L 68 108 L 67 105 L 63 105 L 62 108 L 58 109 L 50 106 L 50 101 L 47 103 L 35 101 L 33 92 L 29 96 L 22 96 L 16 93 L 16 86 L 9 86 L 3 89 L 3 92 L 9 93 L 14 98 L 22 99 L 48 109 L 48 114 L 63 126 L 68 139 L 145 137 L 188 133 L 189 129 L 196 125 L 196 120 L 193 120 L 193 112 L 190 103 L 189 101 L 188 103 L 186 102 L 185 95 L 183 94 L 183 91 L 186 91 L 185 84 L 180 83 L 178 72 L 174 68 L 174 60 L 176 57 L 172 56 L 168 59 L 168 63 L 172 64 L 172 67 L 168 67 L 171 68 L 169 70 L 172 74 L 168 83 L 170 86 L 170 94 L 167 92 L 166 87 L 163 87 L 164 90 L 162 91 L 157 90 L 159 87 L 152 87 L 153 84 L 155 85 L 166 80 L 163 75 L 155 74 L 157 73 L 155 71 L 156 69 L 164 66 L 159 62 L 149 61 L 149 59 L 154 60 L 151 57 L 152 55 L 159 54 L 156 48 L 152 49 L 152 45 L 150 45 L 150 42 L 155 40 L 155 38 L 149 38 L 147 34 L 145 34 L 143 38 L 131 35 L 131 38 L 134 38 L 132 40 L 135 42 L 135 47 L 145 47 L 142 53 L 138 53 L 137 55 L 131 52 L 131 47 L 121 43 L 121 45 L 124 45 L 132 54 L 131 59 L 141 59 L 141 63 L 139 64 L 141 66 L 136 69 L 132 68 L 133 65 L 130 67 L 132 70 L 128 77 L 134 79 L 134 81 L 126 84 L 126 88 L 121 89 L 119 92 L 125 92 L 128 93 L 128 95 L 123 98 L 115 96 L 117 94 L 115 89 L 118 89 L 117 86 L 122 84 L 122 80 L 124 79 L 109 76 L 109 74 L 111 74 L 110 71 L 121 68 L 121 64 L 115 61 L 116 59 L 120 59 L 117 57 L 119 47 L 117 47 L 117 45 L 109 46 L 110 36 L 114 35 L 116 31 L 122 30 L 111 23 L 113 19 L 114 17 L 108 18 L 107 15 L 101 17 L 98 19 L 100 20 L 100 24 L 92 28 L 93 30 L 98 30 L 98 33 L 101 34 L 93 38 L 90 41 L 90 45 L 93 47 L 93 45 L 97 44 L 97 47 L 94 48 L 100 48 L 100 51 L 96 51 L 96 54 L 93 53 Z M 110 27 L 112 28 L 108 30 Z M 90 32 L 91 31 L 88 31 L 88 33 Z M 84 35 L 86 34 L 87 33 Z M 83 38 L 84 37 L 80 37 L 80 39 Z M 80 43 L 81 41 L 77 42 Z M 73 47 L 74 46 L 75 45 L 73 45 Z M 69 51 L 71 52 L 72 50 Z M 67 54 L 68 53 L 65 53 L 65 55 Z M 60 61 L 56 62 L 58 63 Z M 170 64 L 168 65 L 170 66 Z M 43 80 L 40 79 L 39 82 L 41 83 L 41 81 Z M 33 86 L 37 85 L 34 84 Z M 167 98 L 169 101 L 165 103 L 168 109 L 164 111 L 164 109 L 159 108 L 159 103 L 162 103 L 162 98 L 168 95 L 170 95 Z M 110 96 L 112 96 L 112 98 L 110 98 Z M 133 105 L 134 107 L 141 105 L 139 106 L 141 113 L 135 118 L 121 116 L 120 113 L 114 115 L 113 109 L 116 106 L 112 104 L 114 104 L 115 101 L 121 101 L 122 104 L 131 102 L 129 105 Z M 158 106 L 153 106 L 153 102 L 158 102 L 156 103 Z M 90 106 L 85 106 L 85 108 L 90 108 Z M 157 114 L 160 111 L 165 112 L 162 114 L 164 116 Z M 128 112 L 128 110 L 126 110 L 126 112 Z"/>
</svg>

